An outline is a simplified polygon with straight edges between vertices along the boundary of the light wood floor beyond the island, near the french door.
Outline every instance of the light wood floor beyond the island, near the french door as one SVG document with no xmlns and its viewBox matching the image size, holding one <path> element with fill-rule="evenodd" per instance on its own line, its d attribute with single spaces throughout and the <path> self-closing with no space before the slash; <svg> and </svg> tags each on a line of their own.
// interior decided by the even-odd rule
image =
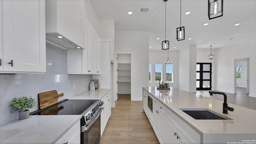
<svg viewBox="0 0 256 144">
<path fill-rule="evenodd" d="M 210 95 L 209 91 L 196 91 L 197 94 L 224 101 L 223 95 Z M 246 88 L 237 87 L 236 94 L 226 93 L 228 103 L 256 110 L 256 98 L 249 97 Z"/>
</svg>

